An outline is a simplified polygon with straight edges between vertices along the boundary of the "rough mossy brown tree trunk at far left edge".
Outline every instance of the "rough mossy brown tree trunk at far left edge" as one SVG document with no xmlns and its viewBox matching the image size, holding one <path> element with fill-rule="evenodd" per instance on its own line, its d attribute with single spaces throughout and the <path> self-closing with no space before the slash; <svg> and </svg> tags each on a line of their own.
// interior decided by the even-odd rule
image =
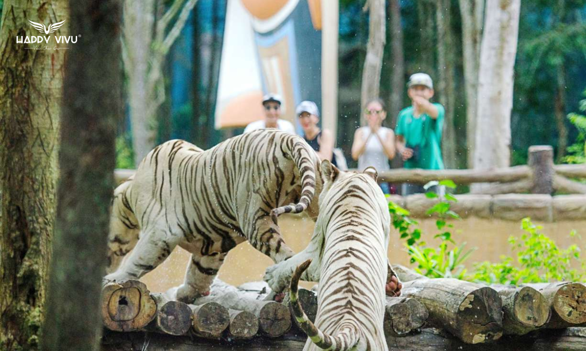
<svg viewBox="0 0 586 351">
<path fill-rule="evenodd" d="M 5 0 L 0 29 L 0 349 L 38 348 L 56 211 L 66 50 L 32 50 L 28 22 L 67 20 L 65 0 Z M 53 35 L 68 35 L 69 21 Z M 49 45 L 57 45 L 50 36 Z M 40 47 L 40 46 L 39 46 Z M 61 45 L 60 47 L 64 47 Z M 71 44 L 69 47 L 73 47 Z"/>
</svg>

